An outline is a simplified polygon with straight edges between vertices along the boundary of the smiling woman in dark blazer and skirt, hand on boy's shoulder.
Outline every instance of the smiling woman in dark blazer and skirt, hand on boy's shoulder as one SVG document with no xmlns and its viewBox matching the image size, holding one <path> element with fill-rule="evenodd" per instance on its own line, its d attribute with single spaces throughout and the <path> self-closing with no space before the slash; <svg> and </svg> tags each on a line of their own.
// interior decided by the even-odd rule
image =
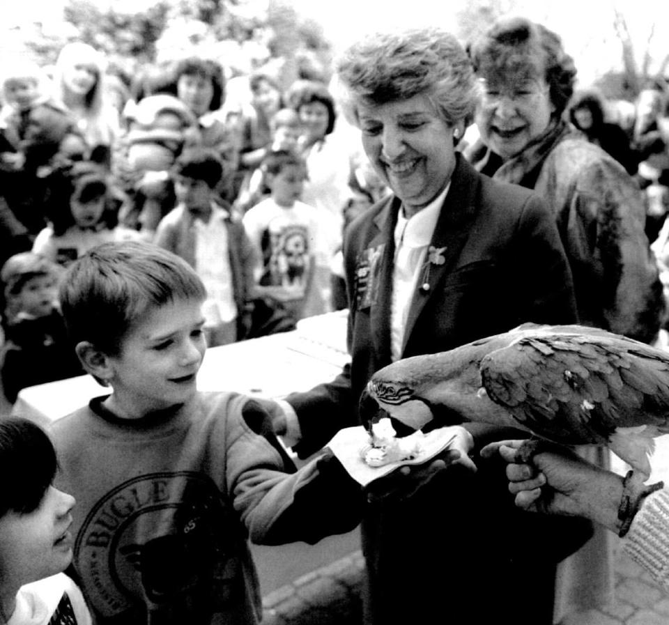
<svg viewBox="0 0 669 625">
<path fill-rule="evenodd" d="M 440 29 L 380 33 L 348 49 L 338 72 L 364 152 L 392 194 L 344 238 L 350 366 L 268 405 L 275 430 L 302 457 L 359 423 L 362 390 L 386 364 L 525 321 L 576 320 L 567 259 L 544 203 L 481 176 L 456 152 L 478 93 L 456 38 Z M 502 435 L 478 424 L 458 432 L 466 449 Z M 467 454 L 460 460 L 467 465 Z M 503 471 L 474 460 L 475 473 L 442 463 L 404 478 L 429 478 L 411 493 L 375 493 L 362 524 L 369 622 L 496 622 L 500 605 L 523 589 L 514 621 L 551 624 L 555 562 L 585 537 L 518 514 Z"/>
</svg>

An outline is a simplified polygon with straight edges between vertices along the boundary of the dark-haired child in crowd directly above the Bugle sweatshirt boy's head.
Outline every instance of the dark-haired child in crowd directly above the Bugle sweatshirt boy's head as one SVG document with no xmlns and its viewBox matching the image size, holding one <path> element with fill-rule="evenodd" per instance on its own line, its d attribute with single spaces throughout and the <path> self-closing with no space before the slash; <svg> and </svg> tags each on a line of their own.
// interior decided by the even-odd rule
<svg viewBox="0 0 669 625">
<path fill-rule="evenodd" d="M 52 176 L 47 219 L 49 226 L 38 234 L 33 252 L 63 266 L 100 243 L 138 236 L 118 227 L 109 177 L 91 162 L 75 163 Z"/>
</svg>

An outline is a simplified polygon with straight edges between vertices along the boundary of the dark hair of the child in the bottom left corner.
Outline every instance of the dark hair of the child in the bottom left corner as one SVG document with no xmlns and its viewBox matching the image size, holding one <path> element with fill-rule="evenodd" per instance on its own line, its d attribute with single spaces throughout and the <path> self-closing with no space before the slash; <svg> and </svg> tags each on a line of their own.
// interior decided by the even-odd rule
<svg viewBox="0 0 669 625">
<path fill-rule="evenodd" d="M 0 517 L 36 510 L 54 481 L 58 461 L 51 440 L 28 419 L 0 419 Z"/>
</svg>

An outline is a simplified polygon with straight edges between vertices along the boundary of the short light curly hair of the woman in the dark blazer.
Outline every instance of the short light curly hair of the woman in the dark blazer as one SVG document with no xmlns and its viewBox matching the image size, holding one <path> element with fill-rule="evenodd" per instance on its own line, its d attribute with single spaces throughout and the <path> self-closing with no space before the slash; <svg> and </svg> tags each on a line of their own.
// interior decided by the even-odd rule
<svg viewBox="0 0 669 625">
<path fill-rule="evenodd" d="M 376 33 L 348 47 L 337 60 L 344 106 L 408 100 L 426 93 L 447 123 L 472 121 L 478 86 L 468 56 L 451 33 L 438 28 Z"/>
</svg>

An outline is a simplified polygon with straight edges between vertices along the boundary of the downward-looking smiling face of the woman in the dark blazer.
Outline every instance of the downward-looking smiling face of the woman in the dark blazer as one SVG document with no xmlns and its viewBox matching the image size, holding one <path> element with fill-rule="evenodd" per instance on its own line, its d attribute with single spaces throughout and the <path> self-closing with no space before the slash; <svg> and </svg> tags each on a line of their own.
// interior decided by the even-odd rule
<svg viewBox="0 0 669 625">
<path fill-rule="evenodd" d="M 403 201 L 407 214 L 427 206 L 453 173 L 454 126 L 438 114 L 425 93 L 381 105 L 359 105 L 357 114 L 364 151 Z"/>
</svg>

